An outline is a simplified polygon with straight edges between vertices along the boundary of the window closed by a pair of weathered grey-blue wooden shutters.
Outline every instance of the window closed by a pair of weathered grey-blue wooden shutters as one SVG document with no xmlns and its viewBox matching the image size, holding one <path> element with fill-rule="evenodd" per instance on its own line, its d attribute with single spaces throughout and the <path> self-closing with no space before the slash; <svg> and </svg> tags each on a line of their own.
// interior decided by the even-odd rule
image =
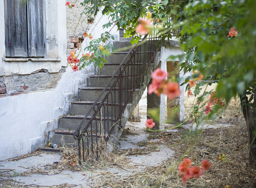
<svg viewBox="0 0 256 188">
<path fill-rule="evenodd" d="M 44 0 L 4 0 L 6 57 L 45 57 Z"/>
</svg>

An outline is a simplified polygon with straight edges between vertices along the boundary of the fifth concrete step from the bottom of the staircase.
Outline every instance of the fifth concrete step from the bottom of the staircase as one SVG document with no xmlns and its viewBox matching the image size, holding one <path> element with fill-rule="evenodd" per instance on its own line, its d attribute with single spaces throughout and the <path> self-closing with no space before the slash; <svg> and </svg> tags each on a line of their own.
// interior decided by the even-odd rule
<svg viewBox="0 0 256 188">
<path fill-rule="evenodd" d="M 111 79 L 112 76 L 110 75 L 93 75 L 87 77 L 87 86 L 88 87 L 105 87 L 108 84 L 108 81 Z M 118 76 L 115 76 L 114 78 L 117 78 Z M 136 75 L 138 78 L 139 75 Z M 136 84 L 137 78 L 128 76 L 122 77 L 122 86 L 123 88 L 132 88 L 134 84 Z M 113 79 L 111 83 L 109 84 L 109 87 L 113 85 L 113 83 L 116 81 L 116 79 Z M 118 87 L 118 83 L 116 83 L 116 87 Z"/>
</svg>

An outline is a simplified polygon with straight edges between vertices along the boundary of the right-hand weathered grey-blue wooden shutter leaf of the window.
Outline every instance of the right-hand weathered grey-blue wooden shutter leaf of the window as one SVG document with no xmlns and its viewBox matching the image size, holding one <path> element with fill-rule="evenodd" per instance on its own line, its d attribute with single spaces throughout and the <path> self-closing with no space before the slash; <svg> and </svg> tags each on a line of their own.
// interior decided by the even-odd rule
<svg viewBox="0 0 256 188">
<path fill-rule="evenodd" d="M 44 57 L 46 54 L 44 0 L 28 1 L 27 22 L 29 57 Z"/>
</svg>

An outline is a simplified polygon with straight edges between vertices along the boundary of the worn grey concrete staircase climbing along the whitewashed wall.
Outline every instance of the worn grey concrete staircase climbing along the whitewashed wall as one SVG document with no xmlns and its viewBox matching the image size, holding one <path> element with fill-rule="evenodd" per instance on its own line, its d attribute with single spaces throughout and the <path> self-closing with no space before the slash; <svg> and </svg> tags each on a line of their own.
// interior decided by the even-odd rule
<svg viewBox="0 0 256 188">
<path fill-rule="evenodd" d="M 128 47 L 131 46 L 130 41 L 117 41 L 113 43 L 116 49 L 122 48 L 122 47 Z M 111 56 L 109 56 L 108 64 L 105 64 L 105 66 L 102 67 L 102 69 L 95 68 L 95 75 L 90 75 L 87 77 L 87 87 L 79 88 L 79 100 L 72 102 L 70 104 L 70 110 L 69 114 L 66 116 L 62 116 L 59 119 L 58 123 L 58 129 L 49 131 L 48 133 L 48 142 L 52 142 L 57 144 L 58 146 L 68 146 L 68 147 L 77 147 L 77 140 L 73 138 L 74 130 L 79 126 L 82 119 L 84 119 L 84 116 L 87 114 L 88 110 L 90 110 L 90 107 L 94 103 L 94 101 L 98 98 L 108 81 L 110 80 L 113 73 L 116 71 L 119 64 L 122 62 L 122 60 L 125 58 L 125 55 L 128 53 L 130 48 L 127 48 L 127 50 L 123 50 L 121 52 L 115 53 Z M 136 64 L 139 65 L 139 67 L 143 67 L 142 62 L 136 62 Z M 145 72 L 145 76 L 142 81 L 140 81 L 139 87 L 135 90 L 131 100 L 129 101 L 129 104 L 125 108 L 125 112 L 122 115 L 122 126 L 125 127 L 125 123 L 127 122 L 129 115 L 132 113 L 134 108 L 137 106 L 145 88 L 147 87 L 150 79 L 151 79 L 151 72 L 154 71 L 156 67 L 156 64 L 154 62 L 151 63 L 150 67 L 148 67 L 147 71 Z M 137 71 L 140 72 L 140 69 L 137 70 L 128 70 L 128 72 Z M 133 78 L 134 79 L 134 78 Z M 129 84 L 131 84 L 131 78 L 129 78 L 129 73 L 127 74 L 126 78 L 123 79 L 123 84 L 126 84 L 129 88 Z M 109 85 L 111 87 L 112 83 Z M 116 88 L 117 90 L 118 88 Z M 105 91 L 105 93 L 108 92 L 108 89 Z M 118 99 L 118 96 L 114 96 Z M 123 93 L 122 98 L 124 99 L 127 94 Z M 102 95 L 101 100 L 105 97 L 105 95 Z M 106 101 L 106 109 L 108 110 L 109 114 L 118 113 L 118 104 L 113 106 L 111 102 Z M 90 113 L 90 115 L 87 117 L 87 119 L 84 121 L 83 127 L 88 123 L 90 120 L 90 117 L 93 115 L 94 111 Z M 100 114 L 98 115 L 100 117 Z M 100 121 L 101 119 L 98 118 Z M 99 122 L 97 121 L 97 122 Z M 106 122 L 108 121 L 108 122 Z M 113 120 L 111 118 L 106 119 L 104 122 L 104 125 L 106 124 L 113 124 Z M 92 124 L 93 130 L 99 130 L 99 124 L 96 124 L 95 121 L 93 121 Z M 109 126 L 104 126 L 104 129 L 109 129 Z M 104 130 L 103 129 L 103 130 Z M 107 132 L 107 130 L 105 130 Z M 111 139 L 108 142 L 112 142 L 113 145 L 116 145 L 118 143 L 118 139 L 120 138 L 122 134 L 122 129 L 117 127 L 112 135 Z M 91 142 L 93 139 L 89 139 L 89 142 Z M 87 141 L 88 142 L 88 141 Z"/>
</svg>

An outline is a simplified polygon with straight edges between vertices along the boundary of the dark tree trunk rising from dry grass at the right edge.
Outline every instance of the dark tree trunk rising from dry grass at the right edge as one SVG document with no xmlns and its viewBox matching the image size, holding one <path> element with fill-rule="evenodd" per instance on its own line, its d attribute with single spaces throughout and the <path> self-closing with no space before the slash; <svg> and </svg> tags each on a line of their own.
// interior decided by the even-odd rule
<svg viewBox="0 0 256 188">
<path fill-rule="evenodd" d="M 249 162 L 253 164 L 256 162 L 256 113 L 252 111 L 251 107 L 247 106 L 249 101 L 245 93 L 239 97 L 249 135 Z"/>
</svg>

